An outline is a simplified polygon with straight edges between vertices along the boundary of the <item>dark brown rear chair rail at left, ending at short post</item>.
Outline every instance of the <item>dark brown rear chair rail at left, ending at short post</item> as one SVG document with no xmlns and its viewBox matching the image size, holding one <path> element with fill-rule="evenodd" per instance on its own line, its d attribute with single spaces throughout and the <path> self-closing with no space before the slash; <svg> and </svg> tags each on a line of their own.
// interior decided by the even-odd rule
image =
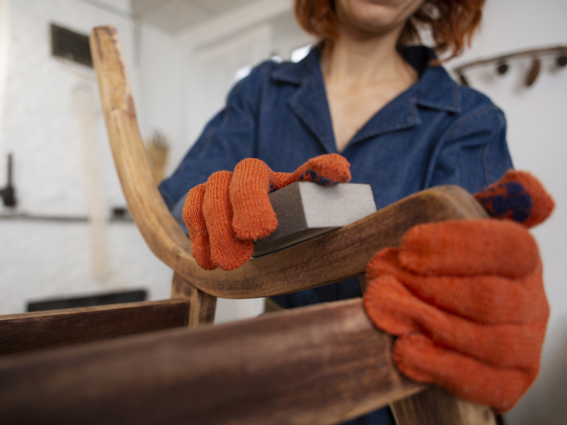
<svg viewBox="0 0 567 425">
<path fill-rule="evenodd" d="M 0 316 L 0 355 L 186 326 L 189 302 L 126 302 Z"/>
</svg>

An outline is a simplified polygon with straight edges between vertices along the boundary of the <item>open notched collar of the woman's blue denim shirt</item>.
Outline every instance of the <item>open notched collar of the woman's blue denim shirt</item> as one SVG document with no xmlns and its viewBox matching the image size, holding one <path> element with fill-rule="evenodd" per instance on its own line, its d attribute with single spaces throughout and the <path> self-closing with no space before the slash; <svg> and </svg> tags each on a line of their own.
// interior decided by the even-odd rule
<svg viewBox="0 0 567 425">
<path fill-rule="evenodd" d="M 354 135 L 349 145 L 386 132 L 420 125 L 417 106 L 449 113 L 460 111 L 455 82 L 443 67 L 431 64 L 432 60 L 437 59 L 433 50 L 425 46 L 409 46 L 403 47 L 400 52 L 404 60 L 419 74 L 417 83 L 378 111 Z M 271 73 L 271 78 L 298 86 L 288 99 L 288 105 L 327 152 L 337 152 L 325 84 L 319 66 L 319 49 L 313 48 L 309 55 L 296 64 L 281 64 Z M 345 149 L 348 149 L 348 145 Z"/>
</svg>

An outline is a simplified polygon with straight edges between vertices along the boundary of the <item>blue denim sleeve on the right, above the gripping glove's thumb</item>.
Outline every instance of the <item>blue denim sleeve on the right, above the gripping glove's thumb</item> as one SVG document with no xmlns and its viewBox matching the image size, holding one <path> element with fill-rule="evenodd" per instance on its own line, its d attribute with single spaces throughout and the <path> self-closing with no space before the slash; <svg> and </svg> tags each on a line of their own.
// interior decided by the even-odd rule
<svg viewBox="0 0 567 425">
<path fill-rule="evenodd" d="M 475 193 L 512 168 L 506 120 L 494 105 L 483 106 L 459 120 L 438 147 L 425 187 L 456 184 Z"/>
</svg>

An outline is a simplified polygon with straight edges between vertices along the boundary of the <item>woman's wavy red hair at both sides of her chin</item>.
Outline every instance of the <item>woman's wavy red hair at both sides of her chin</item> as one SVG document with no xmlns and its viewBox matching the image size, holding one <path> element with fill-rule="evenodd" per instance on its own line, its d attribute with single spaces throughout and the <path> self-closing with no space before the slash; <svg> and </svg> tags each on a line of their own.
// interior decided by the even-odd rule
<svg viewBox="0 0 567 425">
<path fill-rule="evenodd" d="M 417 28 L 429 27 L 435 52 L 449 51 L 449 58 L 458 56 L 465 45 L 471 45 L 473 33 L 481 23 L 484 3 L 485 0 L 425 0 L 405 24 L 398 45 L 419 42 Z M 295 12 L 308 33 L 320 40 L 337 40 L 335 0 L 295 0 Z"/>
</svg>

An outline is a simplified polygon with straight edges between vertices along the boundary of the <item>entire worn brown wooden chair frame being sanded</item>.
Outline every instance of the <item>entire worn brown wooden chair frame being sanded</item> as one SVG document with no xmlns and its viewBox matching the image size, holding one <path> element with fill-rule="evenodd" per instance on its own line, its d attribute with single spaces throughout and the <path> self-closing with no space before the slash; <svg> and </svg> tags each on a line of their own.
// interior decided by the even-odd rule
<svg viewBox="0 0 567 425">
<path fill-rule="evenodd" d="M 4 423 L 334 424 L 393 404 L 400 425 L 495 424 L 488 407 L 400 375 L 392 337 L 371 324 L 360 299 L 184 329 L 212 322 L 216 297 L 361 276 L 376 251 L 397 246 L 413 225 L 486 217 L 466 191 L 423 191 L 235 271 L 203 271 L 157 191 L 116 31 L 95 28 L 91 52 L 128 208 L 174 270 L 174 300 L 0 317 L 0 353 L 11 354 L 0 358 Z M 78 331 L 85 327 L 90 333 Z M 168 327 L 179 329 L 158 331 Z"/>
</svg>

